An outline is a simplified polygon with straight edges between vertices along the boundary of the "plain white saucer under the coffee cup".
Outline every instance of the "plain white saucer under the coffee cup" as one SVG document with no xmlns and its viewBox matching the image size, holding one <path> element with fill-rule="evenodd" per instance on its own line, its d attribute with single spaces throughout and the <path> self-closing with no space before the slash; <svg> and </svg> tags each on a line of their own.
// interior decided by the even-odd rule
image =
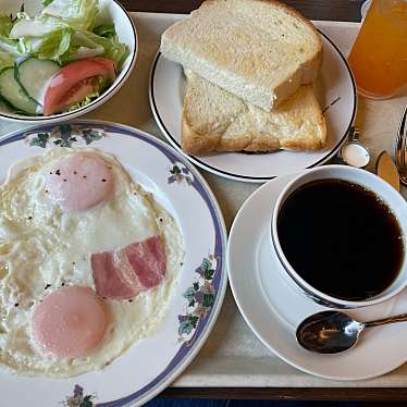
<svg viewBox="0 0 407 407">
<path fill-rule="evenodd" d="M 356 347 L 338 355 L 317 355 L 296 342 L 296 326 L 328 308 L 297 291 L 279 262 L 270 238 L 272 211 L 280 192 L 296 176 L 284 175 L 257 189 L 238 211 L 230 233 L 227 269 L 237 306 L 256 336 L 287 363 L 332 380 L 363 380 L 407 361 L 407 323 L 363 331 Z M 328 227 L 335 227 L 334 213 Z M 335 259 L 332 259 L 335 261 Z M 326 264 L 329 279 L 330 264 Z M 407 311 L 407 292 L 348 313 L 359 321 Z"/>
</svg>

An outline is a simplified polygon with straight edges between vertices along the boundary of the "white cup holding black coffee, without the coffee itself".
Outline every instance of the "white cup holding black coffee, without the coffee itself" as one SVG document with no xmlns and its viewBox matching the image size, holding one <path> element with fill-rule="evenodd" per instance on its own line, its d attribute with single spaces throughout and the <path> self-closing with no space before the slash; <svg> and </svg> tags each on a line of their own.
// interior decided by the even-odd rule
<svg viewBox="0 0 407 407">
<path fill-rule="evenodd" d="M 402 238 L 404 243 L 404 248 L 406 249 L 407 243 L 407 202 L 403 196 L 394 189 L 390 184 L 380 178 L 379 176 L 367 172 L 365 170 L 356 169 L 347 165 L 324 165 L 316 169 L 308 170 L 301 173 L 291 181 L 284 189 L 280 193 L 276 205 L 273 211 L 272 224 L 271 224 L 271 244 L 274 246 L 276 255 L 282 264 L 282 272 L 288 276 L 291 282 L 294 282 L 296 287 L 299 288 L 305 295 L 312 298 L 316 303 L 331 307 L 331 308 L 359 308 L 367 307 L 374 304 L 384 301 L 394 295 L 402 292 L 407 286 L 407 259 L 406 250 L 404 252 L 404 258 L 402 260 L 400 270 L 398 272 L 395 281 L 386 287 L 382 293 L 374 297 L 363 299 L 363 300 L 345 300 L 341 298 L 335 298 L 328 294 L 320 292 L 312 285 L 307 283 L 289 264 L 284 251 L 281 247 L 278 232 L 278 219 L 280 210 L 287 199 L 287 197 L 293 194 L 300 186 L 319 180 L 343 180 L 350 182 L 353 184 L 360 185 L 366 189 L 373 192 L 393 212 L 396 220 L 398 221 Z M 335 224 L 335 213 L 332 213 L 332 227 Z M 334 261 L 334 259 L 333 259 Z M 328 271 L 329 271 L 329 264 Z M 292 285 L 292 284 L 291 284 Z"/>
</svg>

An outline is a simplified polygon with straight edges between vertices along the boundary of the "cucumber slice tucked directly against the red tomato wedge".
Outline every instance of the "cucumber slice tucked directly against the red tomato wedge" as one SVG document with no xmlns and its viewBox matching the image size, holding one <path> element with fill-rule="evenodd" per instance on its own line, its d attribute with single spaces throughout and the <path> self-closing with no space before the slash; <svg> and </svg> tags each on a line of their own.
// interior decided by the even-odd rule
<svg viewBox="0 0 407 407">
<path fill-rule="evenodd" d="M 60 69 L 55 62 L 28 58 L 15 65 L 14 74 L 26 96 L 42 106 L 48 82 Z"/>
</svg>

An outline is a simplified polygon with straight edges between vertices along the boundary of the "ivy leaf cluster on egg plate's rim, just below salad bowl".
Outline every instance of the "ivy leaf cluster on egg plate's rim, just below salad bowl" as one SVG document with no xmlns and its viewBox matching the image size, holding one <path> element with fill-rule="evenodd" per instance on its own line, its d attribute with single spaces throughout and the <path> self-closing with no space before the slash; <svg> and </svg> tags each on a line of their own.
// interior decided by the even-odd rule
<svg viewBox="0 0 407 407">
<path fill-rule="evenodd" d="M 87 146 L 104 136 L 103 131 L 62 124 L 53 127 L 50 132 L 28 134 L 26 140 L 30 147 L 47 148 L 51 143 L 59 147 L 72 147 L 74 145 Z"/>
</svg>

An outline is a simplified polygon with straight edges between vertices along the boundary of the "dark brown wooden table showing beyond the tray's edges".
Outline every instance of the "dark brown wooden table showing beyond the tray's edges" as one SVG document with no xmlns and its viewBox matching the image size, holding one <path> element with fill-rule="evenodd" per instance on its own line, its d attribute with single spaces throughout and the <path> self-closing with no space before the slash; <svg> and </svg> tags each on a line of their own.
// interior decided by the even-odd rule
<svg viewBox="0 0 407 407">
<path fill-rule="evenodd" d="M 161 13 L 189 13 L 199 7 L 199 0 L 121 0 L 130 11 Z M 286 0 L 283 1 L 312 20 L 360 21 L 360 5 L 363 0 Z M 163 397 L 200 398 L 257 398 L 257 399 L 353 399 L 353 400 L 407 400 L 406 388 L 294 388 L 294 387 L 175 387 L 168 388 Z"/>
</svg>

